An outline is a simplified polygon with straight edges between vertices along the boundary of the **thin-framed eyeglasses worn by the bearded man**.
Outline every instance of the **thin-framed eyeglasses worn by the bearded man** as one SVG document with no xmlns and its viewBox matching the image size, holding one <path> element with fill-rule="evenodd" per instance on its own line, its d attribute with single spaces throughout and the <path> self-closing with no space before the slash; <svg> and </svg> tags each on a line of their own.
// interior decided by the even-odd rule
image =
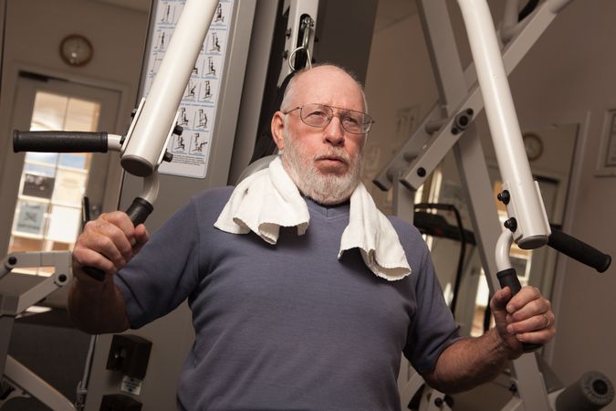
<svg viewBox="0 0 616 411">
<path fill-rule="evenodd" d="M 318 127 L 324 129 L 328 126 L 331 119 L 334 118 L 334 110 L 339 111 L 339 119 L 342 128 L 351 134 L 364 134 L 368 132 L 374 122 L 370 115 L 361 111 L 348 109 L 340 109 L 326 104 L 310 103 L 296 107 L 283 114 L 288 114 L 293 111 L 299 111 L 299 118 L 310 127 Z"/>
</svg>

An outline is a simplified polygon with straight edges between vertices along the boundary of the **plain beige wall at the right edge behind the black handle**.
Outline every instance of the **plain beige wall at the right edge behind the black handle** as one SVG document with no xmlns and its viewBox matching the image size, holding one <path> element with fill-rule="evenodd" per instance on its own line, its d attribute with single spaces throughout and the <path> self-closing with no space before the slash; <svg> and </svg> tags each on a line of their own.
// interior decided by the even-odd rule
<svg viewBox="0 0 616 411">
<path fill-rule="evenodd" d="M 565 228 L 582 240 L 616 255 L 616 179 L 594 175 L 603 116 L 616 107 L 616 3 L 574 2 L 540 39 L 512 76 L 517 111 L 528 127 L 584 121 L 587 132 L 574 164 Z M 594 369 L 616 382 L 616 268 L 603 274 L 563 258 L 557 273 L 555 304 L 558 337 L 552 364 L 565 383 Z M 606 409 L 616 409 L 613 404 Z"/>
</svg>

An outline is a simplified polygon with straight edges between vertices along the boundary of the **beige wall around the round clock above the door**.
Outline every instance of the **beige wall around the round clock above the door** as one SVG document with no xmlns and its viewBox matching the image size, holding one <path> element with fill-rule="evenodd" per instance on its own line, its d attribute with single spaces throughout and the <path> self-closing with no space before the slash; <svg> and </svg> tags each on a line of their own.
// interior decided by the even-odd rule
<svg viewBox="0 0 616 411">
<path fill-rule="evenodd" d="M 8 119 L 15 98 L 16 70 L 70 79 L 123 92 L 127 123 L 141 75 L 147 14 L 87 0 L 5 0 L 5 43 L 0 94 L 0 160 L 10 153 Z M 59 55 L 63 37 L 78 33 L 94 47 L 92 60 L 69 67 Z M 123 132 L 115 130 L 109 132 Z"/>
</svg>

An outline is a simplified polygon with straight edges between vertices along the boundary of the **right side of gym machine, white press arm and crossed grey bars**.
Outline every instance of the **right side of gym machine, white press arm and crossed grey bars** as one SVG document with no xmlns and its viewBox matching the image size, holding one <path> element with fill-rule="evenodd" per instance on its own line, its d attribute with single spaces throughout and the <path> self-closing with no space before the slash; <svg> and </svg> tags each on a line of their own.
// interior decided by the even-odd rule
<svg viewBox="0 0 616 411">
<path fill-rule="evenodd" d="M 505 286 L 509 286 L 512 293 L 520 289 L 509 262 L 513 241 L 520 248 L 527 249 L 549 245 L 600 272 L 608 269 L 611 263 L 610 256 L 564 233 L 550 230 L 538 184 L 530 173 L 506 75 L 569 1 L 546 0 L 539 6 L 534 3 L 534 12 L 517 23 L 517 0 L 507 2 L 505 26 L 500 32 L 506 46 L 501 55 L 486 1 L 458 0 L 475 61 L 464 70 L 444 0 L 418 0 L 440 101 L 402 150 L 374 179 L 382 190 L 393 189 L 394 214 L 412 221 L 414 191 L 453 148 L 492 293 Z M 473 86 L 469 88 L 468 84 Z M 493 205 L 494 200 L 484 155 L 472 124 L 476 114 L 484 108 L 505 188 L 498 195 L 509 216 L 503 234 L 500 234 L 495 210 L 486 208 Z M 489 250 L 495 249 L 495 245 L 496 252 L 492 254 Z M 533 351 L 539 347 L 525 348 Z M 405 369 L 409 372 L 404 373 Z M 594 410 L 608 405 L 613 399 L 610 380 L 599 373 L 585 374 L 568 389 L 549 385 L 548 392 L 544 381 L 548 372 L 539 368 L 533 353 L 513 361 L 510 371 L 514 396 L 505 406 L 506 410 Z M 399 386 L 402 404 L 408 404 L 422 388 L 423 379 L 409 369 L 408 364 L 403 364 Z M 419 409 L 448 409 L 445 399 L 441 393 L 426 388 Z"/>
</svg>

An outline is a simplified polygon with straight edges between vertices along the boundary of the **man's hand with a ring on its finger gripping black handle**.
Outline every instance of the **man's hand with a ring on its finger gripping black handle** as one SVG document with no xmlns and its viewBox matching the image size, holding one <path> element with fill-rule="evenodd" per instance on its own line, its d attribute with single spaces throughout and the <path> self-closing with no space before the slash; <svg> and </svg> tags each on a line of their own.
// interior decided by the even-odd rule
<svg viewBox="0 0 616 411">
<path fill-rule="evenodd" d="M 556 333 L 549 300 L 536 287 L 524 287 L 513 298 L 508 287 L 497 290 L 490 309 L 510 359 L 522 354 L 522 342 L 547 343 Z"/>
</svg>

